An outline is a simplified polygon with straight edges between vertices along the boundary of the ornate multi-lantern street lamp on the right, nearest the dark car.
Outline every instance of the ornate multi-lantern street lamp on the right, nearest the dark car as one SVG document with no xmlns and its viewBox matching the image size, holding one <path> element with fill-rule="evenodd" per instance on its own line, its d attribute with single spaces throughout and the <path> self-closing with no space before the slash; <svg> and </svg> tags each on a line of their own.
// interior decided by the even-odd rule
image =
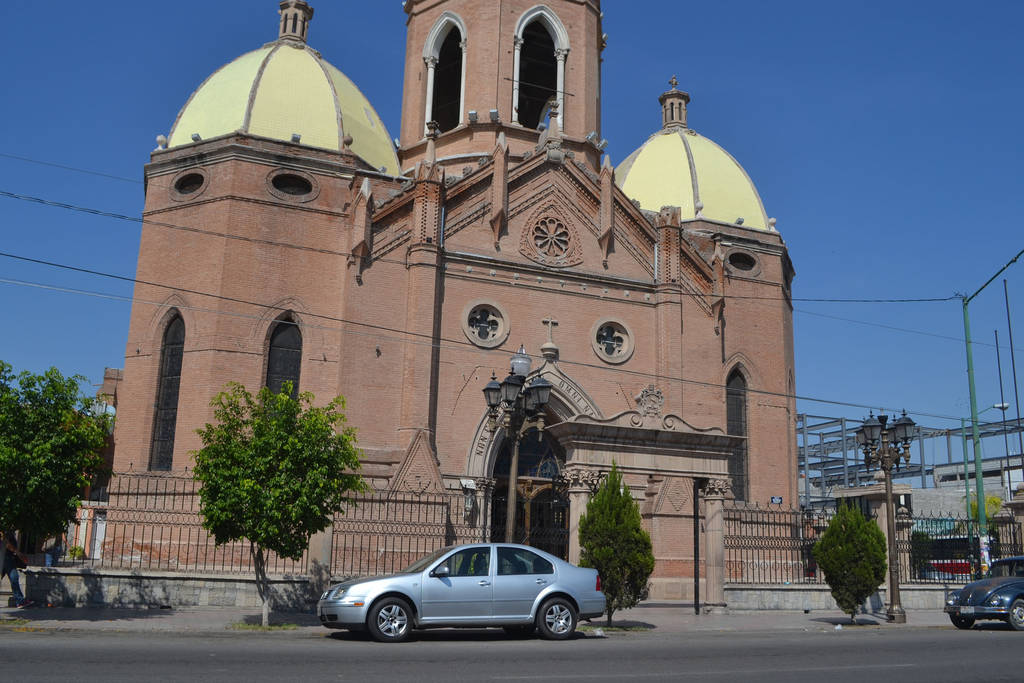
<svg viewBox="0 0 1024 683">
<path fill-rule="evenodd" d="M 913 442 L 913 420 L 902 417 L 886 428 L 888 415 L 873 415 L 864 420 L 857 430 L 857 443 L 864 453 L 864 465 L 877 463 L 886 475 L 886 528 L 889 529 L 889 609 L 886 618 L 894 624 L 906 624 L 906 612 L 899 599 L 899 556 L 896 554 L 896 512 L 893 510 L 893 467 L 899 469 L 900 461 L 910 464 L 910 444 Z"/>
</svg>

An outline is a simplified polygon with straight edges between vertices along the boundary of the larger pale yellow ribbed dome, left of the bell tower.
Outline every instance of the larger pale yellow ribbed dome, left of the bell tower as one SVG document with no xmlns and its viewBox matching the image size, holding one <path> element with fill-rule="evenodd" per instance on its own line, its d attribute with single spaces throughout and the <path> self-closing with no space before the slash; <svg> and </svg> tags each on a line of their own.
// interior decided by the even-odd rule
<svg viewBox="0 0 1024 683">
<path fill-rule="evenodd" d="M 178 114 L 167 146 L 191 144 L 195 135 L 243 132 L 340 152 L 351 136 L 353 154 L 397 175 L 398 158 L 377 112 L 348 77 L 306 45 L 312 9 L 301 1 L 287 4 L 296 7 L 283 9 L 279 40 L 206 79 Z M 297 28 L 286 12 L 302 9 L 307 14 Z"/>
</svg>

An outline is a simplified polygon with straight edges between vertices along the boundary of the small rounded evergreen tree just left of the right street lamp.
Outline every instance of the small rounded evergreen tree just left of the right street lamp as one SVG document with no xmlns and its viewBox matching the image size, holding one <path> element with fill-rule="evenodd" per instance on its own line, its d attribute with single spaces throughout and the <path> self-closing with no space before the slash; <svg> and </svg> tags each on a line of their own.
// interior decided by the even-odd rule
<svg viewBox="0 0 1024 683">
<path fill-rule="evenodd" d="M 840 609 L 856 622 L 857 609 L 886 578 L 886 537 L 860 510 L 841 504 L 828 528 L 814 544 L 814 559 L 824 572 Z"/>
</svg>

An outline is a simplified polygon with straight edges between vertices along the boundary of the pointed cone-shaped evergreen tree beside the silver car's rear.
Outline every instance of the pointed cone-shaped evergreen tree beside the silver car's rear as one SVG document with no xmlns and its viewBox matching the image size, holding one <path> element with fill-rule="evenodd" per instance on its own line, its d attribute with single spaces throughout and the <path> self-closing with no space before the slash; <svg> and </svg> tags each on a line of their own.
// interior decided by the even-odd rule
<svg viewBox="0 0 1024 683">
<path fill-rule="evenodd" d="M 580 564 L 597 569 L 601 577 L 611 626 L 616 609 L 628 609 L 643 599 L 654 570 L 650 535 L 614 463 L 580 518 Z"/>
</svg>

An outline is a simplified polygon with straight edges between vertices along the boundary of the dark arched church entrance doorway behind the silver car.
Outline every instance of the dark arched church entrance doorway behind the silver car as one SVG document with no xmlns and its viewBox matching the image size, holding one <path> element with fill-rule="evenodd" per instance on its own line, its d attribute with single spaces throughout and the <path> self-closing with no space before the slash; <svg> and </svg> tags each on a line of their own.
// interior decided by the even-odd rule
<svg viewBox="0 0 1024 683">
<path fill-rule="evenodd" d="M 540 436 L 540 438 L 538 438 Z M 495 494 L 490 506 L 490 538 L 505 539 L 512 440 L 504 439 L 495 461 Z M 519 441 L 516 513 L 513 540 L 568 558 L 569 502 L 561 472 L 565 454 L 547 432 L 528 430 Z"/>
</svg>

